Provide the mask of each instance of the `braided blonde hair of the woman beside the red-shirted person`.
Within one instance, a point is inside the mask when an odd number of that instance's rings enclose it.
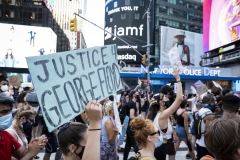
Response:
[[[24,134],[23,128],[21,127],[20,119],[23,116],[25,116],[26,118],[29,118],[32,115],[37,115],[37,112],[29,105],[23,106],[22,108],[20,108],[18,110],[18,112],[15,116],[16,124],[14,126],[14,129],[16,130],[16,132],[20,138],[22,137],[22,135],[24,135],[26,137],[26,135]],[[24,147],[27,147],[26,142],[22,138],[21,138],[21,140],[23,141]]]

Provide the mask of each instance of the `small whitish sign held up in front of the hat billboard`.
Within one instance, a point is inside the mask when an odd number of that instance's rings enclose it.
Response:
[[[180,73],[183,71],[182,62],[178,53],[177,47],[172,47],[171,50],[168,52],[168,57],[170,60],[170,63],[173,68],[178,68],[180,70]]]

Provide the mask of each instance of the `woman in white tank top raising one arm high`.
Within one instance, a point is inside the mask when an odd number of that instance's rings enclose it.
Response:
[[[177,97],[173,104],[167,108],[166,102],[168,101],[166,95],[160,93],[154,96],[154,101],[150,104],[150,109],[148,113],[148,119],[151,119],[154,125],[158,128],[161,135],[163,136],[163,144],[160,147],[155,149],[154,155],[157,160],[165,160],[167,152],[169,155],[175,155],[174,145],[169,144],[171,150],[167,150],[168,144],[167,140],[172,138],[173,128],[170,121],[171,115],[178,109],[178,106],[181,104],[182,97],[182,83],[179,77],[179,70],[173,69],[173,76],[176,79],[177,85]]]

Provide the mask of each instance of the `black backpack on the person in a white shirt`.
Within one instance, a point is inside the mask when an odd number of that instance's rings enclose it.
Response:
[[[200,139],[202,137],[202,132],[201,132],[201,126],[202,126],[202,121],[203,119],[210,115],[213,114],[211,110],[206,109],[206,108],[202,108],[204,109],[204,113],[202,113],[201,115],[199,114],[199,111],[194,112],[193,113],[193,131],[195,132],[195,137],[197,139]]]

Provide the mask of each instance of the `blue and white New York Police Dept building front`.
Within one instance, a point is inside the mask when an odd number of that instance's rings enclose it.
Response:
[[[144,68],[138,70],[139,72],[135,70],[135,73],[125,72],[126,70],[121,72],[121,77],[131,89],[134,89],[137,85],[138,78],[140,80],[147,79],[147,71]],[[180,77],[183,90],[187,90],[188,93],[191,93],[191,86],[194,86],[198,80],[206,84],[208,89],[214,88],[212,81],[215,81],[222,88],[227,87],[240,93],[240,77],[234,76],[230,68],[184,67]],[[154,71],[150,72],[150,83],[155,93],[160,92],[163,85],[169,83],[174,85],[175,79],[172,75],[172,68],[159,65],[159,68],[155,68]]]

